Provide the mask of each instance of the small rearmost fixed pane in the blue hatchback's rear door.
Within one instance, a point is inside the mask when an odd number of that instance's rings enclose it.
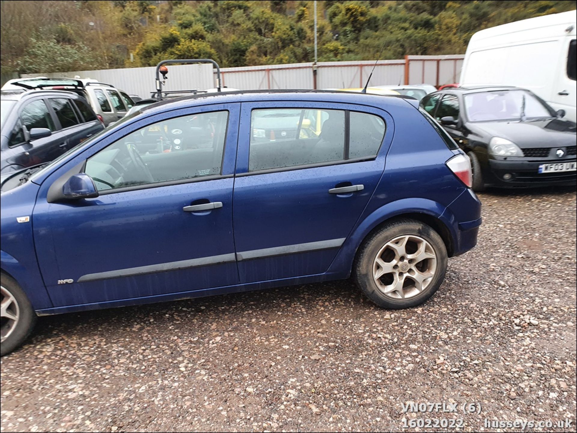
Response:
[[[350,112],[349,158],[377,156],[385,135],[385,122],[374,114]]]

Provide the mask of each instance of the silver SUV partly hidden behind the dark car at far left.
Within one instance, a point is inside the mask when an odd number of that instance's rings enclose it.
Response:
[[[67,90],[84,96],[90,103],[96,116],[108,126],[112,122],[124,117],[126,112],[132,108],[134,101],[126,92],[115,88],[111,84],[104,84],[90,78],[81,80],[76,78],[22,78],[20,80],[10,80],[2,90],[32,90],[32,89],[52,89]]]

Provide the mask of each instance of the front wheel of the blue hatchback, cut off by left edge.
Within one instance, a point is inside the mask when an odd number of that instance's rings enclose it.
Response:
[[[36,323],[36,313],[14,278],[0,274],[0,283],[2,292],[0,356],[4,356],[28,338]]]

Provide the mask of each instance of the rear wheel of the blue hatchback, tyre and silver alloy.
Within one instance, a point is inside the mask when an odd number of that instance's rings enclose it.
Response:
[[[378,306],[410,308],[437,291],[445,278],[447,261],[445,243],[432,227],[417,220],[396,220],[364,240],[353,277]]]

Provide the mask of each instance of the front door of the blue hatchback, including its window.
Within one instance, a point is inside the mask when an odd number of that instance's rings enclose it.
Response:
[[[238,283],[232,206],[238,116],[239,104],[221,104],[142,119],[43,182],[35,242],[55,306]],[[198,133],[199,126],[210,133]],[[78,163],[99,197],[53,202],[48,191],[61,189],[61,176]]]

